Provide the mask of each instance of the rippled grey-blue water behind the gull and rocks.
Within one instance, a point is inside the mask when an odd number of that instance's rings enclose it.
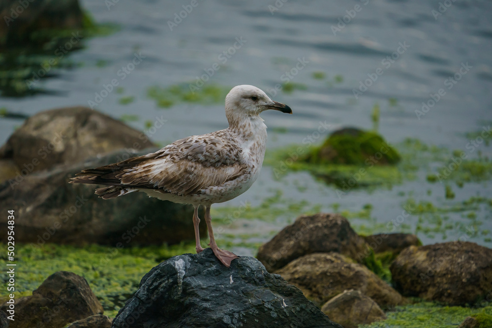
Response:
[[[109,8],[107,2],[85,0],[81,4],[96,22],[116,23],[120,31],[82,41],[84,49],[70,55],[80,67],[57,69],[54,77],[39,82],[43,89],[56,93],[3,97],[0,107],[32,115],[57,107],[88,106],[103,85],[117,79],[123,94],[113,90],[96,109],[116,118],[138,115],[139,119],[129,124],[142,130],[147,120],[166,119],[152,135],[154,141],[165,144],[227,126],[223,104],[179,104],[161,109],[146,96],[151,86],[194,82],[208,70],[213,75],[209,73],[212,76],[206,84],[252,84],[293,108],[293,116],[264,113],[270,131],[267,151],[302,143],[320,122],[330,126],[318,141],[342,126],[371,128],[370,113],[376,102],[381,108],[379,132],[393,143],[413,137],[427,144],[466,150],[464,134],[481,130],[483,121],[492,121],[490,1],[449,1],[449,7],[441,7],[440,13],[437,0],[199,0],[172,30],[168,22],[173,22],[175,13],[179,15],[190,1],[119,1]],[[339,24],[343,20],[347,23]],[[119,70],[136,54],[140,54],[141,63],[122,79]],[[324,72],[326,77],[314,79],[314,72]],[[372,80],[368,80],[370,77]],[[286,80],[306,89],[290,94],[273,91]],[[361,83],[370,86],[359,89]],[[364,92],[356,99],[354,89]],[[439,89],[440,99],[431,106]],[[121,105],[122,96],[134,96],[135,100]],[[397,105],[391,106],[389,99],[396,99]],[[419,119],[416,111],[422,110],[422,102],[430,109]],[[0,142],[20,124],[19,119],[1,119]],[[283,128],[286,133],[275,132]],[[485,146],[480,150],[486,155],[491,153]],[[306,190],[296,188],[299,183]],[[409,193],[418,200],[446,203],[443,186],[428,184],[425,177],[393,190],[351,191],[338,199],[333,187],[306,173],[275,181],[271,168],[265,167],[250,191],[224,205],[237,206],[241,201],[258,204],[272,194],[271,188],[282,189],[285,199],[321,204],[323,210],[333,210],[331,204],[335,202],[340,208],[354,211],[370,203],[373,216],[383,223],[401,214],[401,204]],[[431,196],[426,193],[428,189],[433,190]],[[399,191],[404,196],[398,196]],[[490,195],[491,187],[487,182],[470,183],[455,192],[454,202],[460,202],[471,195]],[[478,213],[484,221],[481,229],[491,229],[490,209]],[[268,225],[260,239],[268,240],[268,234],[291,220],[286,217],[274,226]],[[411,220],[416,217],[407,221]],[[457,215],[452,221],[466,219]],[[232,228],[233,232],[248,229],[239,224]],[[447,240],[461,236],[462,231],[451,231]],[[419,237],[425,243],[442,240],[442,236],[421,233]],[[467,240],[490,246],[486,238],[478,234]]]

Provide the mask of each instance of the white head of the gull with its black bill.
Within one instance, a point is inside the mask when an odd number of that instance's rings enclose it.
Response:
[[[234,87],[225,97],[225,113],[229,122],[233,118],[258,116],[267,109],[292,114],[289,106],[273,101],[265,92],[253,86]]]

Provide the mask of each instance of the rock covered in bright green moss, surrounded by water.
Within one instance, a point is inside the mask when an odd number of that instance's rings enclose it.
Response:
[[[332,133],[305,160],[311,164],[394,165],[400,159],[379,134],[348,127]]]

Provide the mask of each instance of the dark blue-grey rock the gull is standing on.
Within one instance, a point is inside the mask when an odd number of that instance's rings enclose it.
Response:
[[[210,248],[172,257],[147,273],[113,328],[337,327],[301,291],[255,258],[224,267]]]

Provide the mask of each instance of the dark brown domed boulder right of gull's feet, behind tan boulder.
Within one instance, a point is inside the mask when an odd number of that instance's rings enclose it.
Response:
[[[362,260],[369,254],[362,237],[339,214],[303,215],[258,250],[257,258],[273,272],[311,253],[337,252]]]

